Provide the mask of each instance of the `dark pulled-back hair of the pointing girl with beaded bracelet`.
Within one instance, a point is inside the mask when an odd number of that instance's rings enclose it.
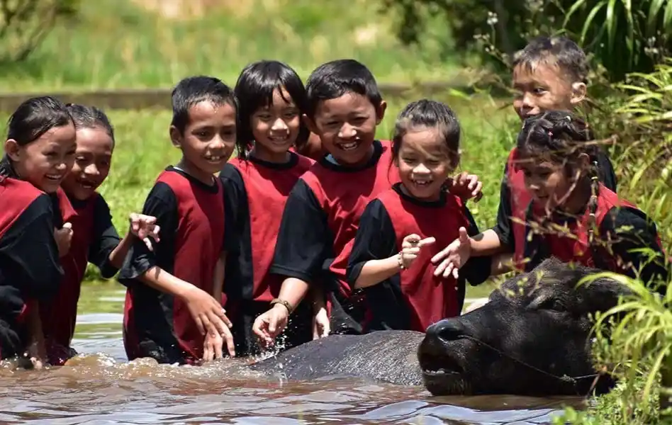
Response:
[[[392,136],[392,156],[396,158],[404,135],[414,128],[437,128],[451,159],[451,166],[459,162],[460,125],[457,116],[445,103],[421,99],[408,103],[399,113]]]

